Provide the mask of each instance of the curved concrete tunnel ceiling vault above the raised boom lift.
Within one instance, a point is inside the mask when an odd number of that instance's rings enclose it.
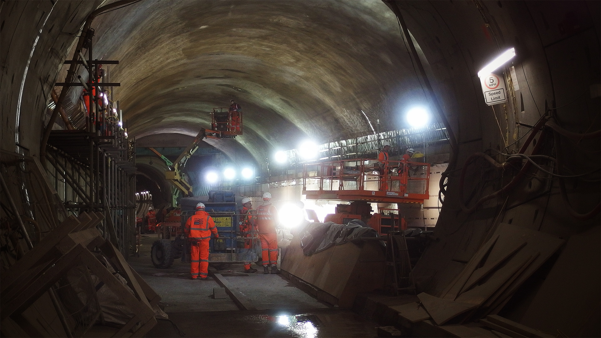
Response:
[[[423,103],[394,13],[373,1],[142,1],[99,16],[130,135],[195,136],[213,107],[243,108],[239,142],[256,161],[319,142],[403,127]],[[231,142],[209,141],[230,157]],[[245,153],[242,151],[242,153]]]

